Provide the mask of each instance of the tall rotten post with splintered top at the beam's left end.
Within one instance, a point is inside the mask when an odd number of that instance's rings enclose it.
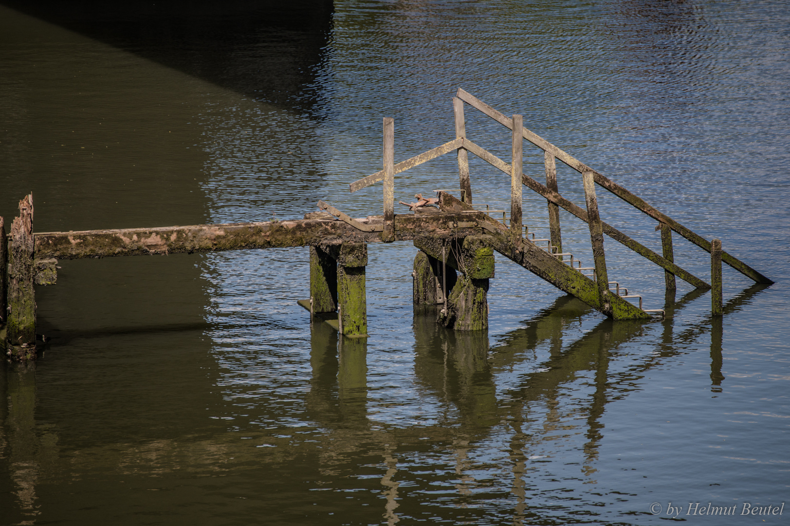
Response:
[[[33,291],[33,195],[19,202],[11,224],[7,339],[15,360],[36,359],[36,297]]]

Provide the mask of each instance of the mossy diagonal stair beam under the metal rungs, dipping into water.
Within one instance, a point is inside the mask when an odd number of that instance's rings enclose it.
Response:
[[[446,192],[441,192],[440,195],[439,206],[442,207],[442,210],[471,210],[470,206]],[[487,233],[492,239],[491,248],[518,263],[532,274],[543,278],[565,293],[573,294],[590,307],[615,320],[649,318],[647,312],[631,305],[629,301],[615,294],[609,294],[608,303],[602,305],[596,282],[581,272],[574,271],[565,263],[561,263],[529,240],[521,239],[517,243],[513,243],[510,239],[510,230],[502,223],[488,216],[484,216],[483,220],[493,227],[487,229]]]

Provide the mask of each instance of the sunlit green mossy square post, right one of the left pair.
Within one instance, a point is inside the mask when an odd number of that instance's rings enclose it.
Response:
[[[337,326],[346,336],[367,337],[366,243],[344,243],[337,257]]]

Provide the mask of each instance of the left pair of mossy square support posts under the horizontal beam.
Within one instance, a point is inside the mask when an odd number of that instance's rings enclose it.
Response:
[[[310,299],[299,305],[310,314],[337,310],[337,320],[326,320],[328,324],[350,338],[367,337],[365,267],[365,243],[311,246]]]

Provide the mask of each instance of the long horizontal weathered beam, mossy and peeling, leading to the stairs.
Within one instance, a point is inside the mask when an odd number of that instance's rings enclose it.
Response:
[[[480,227],[465,227],[477,214],[396,214],[396,240],[416,234],[453,237],[457,232],[480,234]],[[359,220],[366,221],[366,220]],[[382,224],[370,218],[369,224]],[[36,233],[36,258],[80,259],[122,255],[213,252],[247,248],[305,247],[323,242],[381,242],[380,232],[362,232],[343,221],[297,219],[230,223],[225,225],[167,226],[152,229],[86,230]]]

